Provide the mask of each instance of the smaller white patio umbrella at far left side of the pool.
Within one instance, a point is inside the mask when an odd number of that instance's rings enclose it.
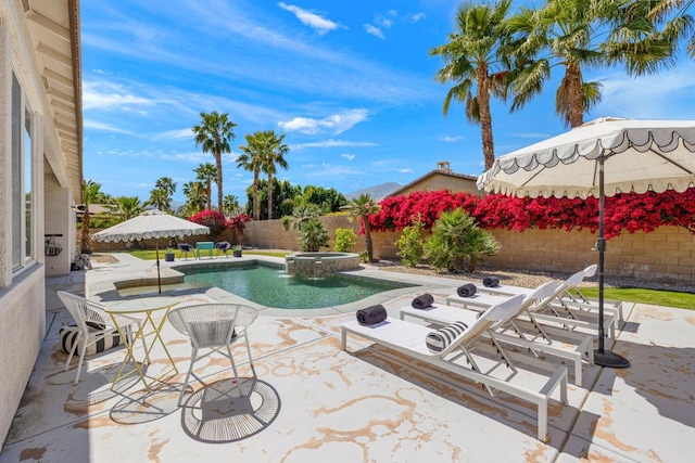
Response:
[[[160,243],[161,237],[184,237],[194,234],[207,234],[210,229],[205,226],[179,219],[161,210],[146,210],[138,217],[117,223],[91,235],[96,241],[116,242],[157,239],[156,248],[156,281],[162,293],[162,279],[160,276]]]

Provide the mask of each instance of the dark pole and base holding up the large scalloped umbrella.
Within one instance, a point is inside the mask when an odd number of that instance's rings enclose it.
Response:
[[[606,252],[606,239],[604,233],[604,159],[598,158],[598,349],[594,350],[594,363],[599,366],[614,369],[626,369],[630,366],[630,361],[624,357],[605,350],[605,329],[604,329],[604,253]]]

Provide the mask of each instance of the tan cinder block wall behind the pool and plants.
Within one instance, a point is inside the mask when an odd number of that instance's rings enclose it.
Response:
[[[359,233],[359,223],[350,222],[345,216],[321,217],[331,237],[329,249],[333,248],[336,229],[352,228]],[[564,230],[492,230],[502,249],[496,256],[485,259],[485,263],[518,270],[549,270],[573,272],[578,268],[598,261],[598,254],[592,250],[596,234],[586,230],[566,232]],[[374,255],[382,259],[396,259],[400,233],[372,233]],[[285,230],[280,220],[261,220],[247,223],[241,240],[225,231],[222,240],[265,249],[300,250],[300,234]],[[207,241],[206,236],[189,236],[187,243]],[[146,241],[146,246],[154,247],[154,241]],[[165,240],[160,240],[160,248],[166,248]],[[123,250],[124,243],[94,243],[94,252]],[[365,237],[357,234],[357,245],[353,252],[365,250]],[[623,233],[608,240],[606,250],[606,272],[614,276],[636,278],[645,281],[675,280],[692,283],[695,291],[695,235],[681,227],[660,227],[652,233]]]

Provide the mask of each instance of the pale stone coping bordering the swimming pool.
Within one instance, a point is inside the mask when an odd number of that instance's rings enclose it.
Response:
[[[162,282],[166,284],[181,283],[184,273],[177,270],[180,267],[217,267],[219,265],[255,265],[258,261],[270,263],[273,266],[283,266],[285,259],[273,256],[263,255],[247,255],[241,258],[228,258],[220,259],[194,259],[194,260],[178,260],[175,262],[161,262],[160,271]],[[200,288],[185,288],[187,294],[198,293],[204,294],[211,299],[218,303],[229,304],[244,304],[256,308],[261,314],[267,317],[326,317],[326,316],[339,316],[343,313],[351,313],[361,308],[383,304],[390,299],[399,296],[416,293],[425,293],[428,291],[442,288],[442,287],[455,287],[455,281],[451,279],[417,275],[409,273],[389,272],[381,270],[378,267],[370,265],[362,265],[358,269],[337,272],[341,275],[351,279],[364,279],[364,280],[377,280],[383,282],[399,282],[410,284],[409,287],[400,287],[382,293],[378,293],[368,296],[364,299],[359,299],[354,303],[343,304],[339,306],[321,307],[316,309],[282,309],[276,307],[267,307],[245,299],[233,293],[229,293],[216,286],[204,286]],[[124,298],[137,298],[143,297],[143,294],[134,294],[129,296],[123,296],[119,291],[125,287],[150,287],[156,286],[156,278],[151,274],[143,274],[132,278],[132,273],[127,276],[114,276],[98,283],[90,285],[88,288],[88,296],[100,300],[102,303],[123,300]],[[149,294],[149,293],[148,293]],[[163,290],[162,294],[176,296],[176,290]],[[179,291],[180,294],[180,291]]]

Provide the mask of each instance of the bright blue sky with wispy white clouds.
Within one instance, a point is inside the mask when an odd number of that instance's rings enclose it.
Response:
[[[236,167],[244,134],[286,133],[293,184],[342,193],[408,183],[448,160],[482,172],[480,129],[463,104],[442,103],[446,42],[458,1],[89,0],[81,2],[85,178],[142,201],[160,177],[181,185],[214,163],[190,128],[201,112],[237,124],[223,158],[224,193],[245,203],[250,172]],[[559,70],[559,69],[558,69]],[[599,116],[695,119],[695,64],[681,57],[656,76],[597,69]],[[497,156],[563,132],[554,114],[559,73],[543,94],[509,114],[493,103]],[[216,193],[213,193],[215,195]],[[216,196],[214,196],[216,197]]]

